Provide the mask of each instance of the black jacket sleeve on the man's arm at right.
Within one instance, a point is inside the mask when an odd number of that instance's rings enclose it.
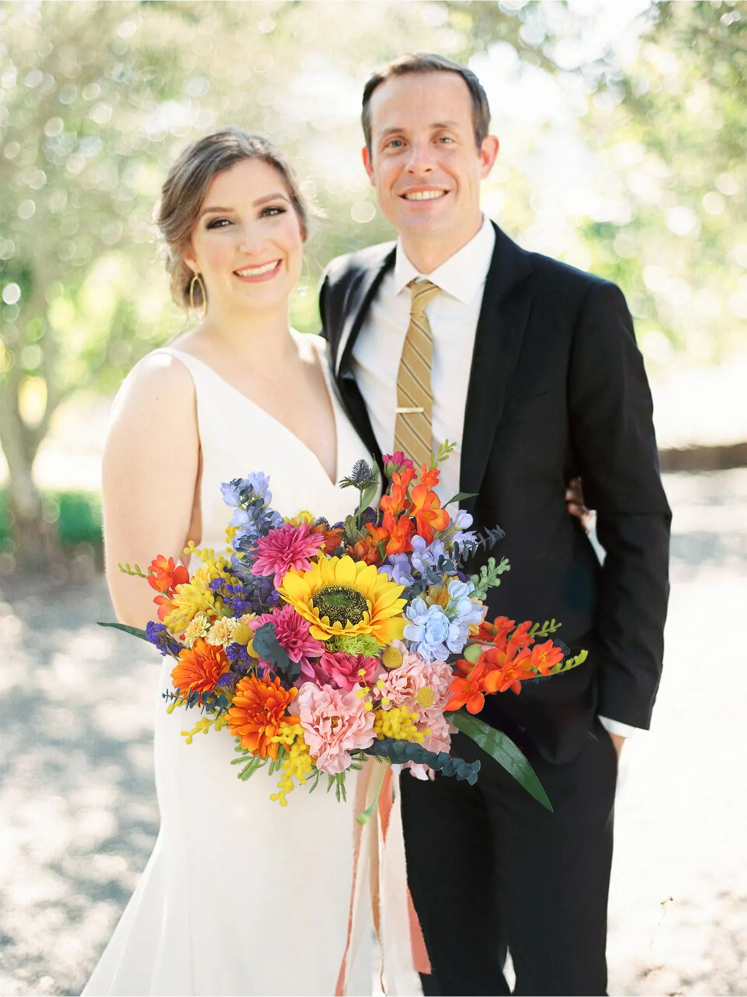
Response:
[[[648,728],[661,674],[671,513],[652,404],[622,292],[596,283],[575,331],[571,435],[606,550],[597,610],[598,712]]]

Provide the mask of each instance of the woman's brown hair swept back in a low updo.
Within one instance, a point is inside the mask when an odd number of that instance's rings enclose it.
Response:
[[[190,304],[189,285],[193,271],[184,262],[192,229],[199,218],[207,188],[215,177],[243,160],[261,160],[273,166],[283,178],[306,241],[309,207],[291,166],[280,150],[261,135],[237,128],[221,129],[198,139],[180,154],[168,171],[155,210],[155,222],[165,242],[166,270],[171,277],[171,294],[176,304]],[[202,285],[195,281],[192,300],[201,307]]]

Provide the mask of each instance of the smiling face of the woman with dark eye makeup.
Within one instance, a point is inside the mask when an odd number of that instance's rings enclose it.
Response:
[[[242,160],[212,181],[184,260],[217,311],[287,303],[301,273],[303,234],[285,180],[263,160]]]

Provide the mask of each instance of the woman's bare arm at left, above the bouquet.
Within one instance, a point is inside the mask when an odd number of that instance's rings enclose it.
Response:
[[[157,554],[182,556],[199,466],[194,386],[178,360],[145,357],[115,400],[104,451],[104,549],[109,590],[121,622],[157,618],[157,594],[118,562],[143,571]]]

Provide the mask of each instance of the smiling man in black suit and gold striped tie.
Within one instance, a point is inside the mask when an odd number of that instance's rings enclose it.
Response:
[[[401,779],[409,885],[432,964],[426,994],[603,994],[622,738],[647,728],[662,656],[670,512],[651,399],[614,284],[521,249],[480,211],[498,140],[478,79],[404,56],[364,91],[364,164],[397,242],[334,260],[321,308],[344,401],[373,453],[458,441],[442,500],[499,523],[511,572],[488,618],[556,617],[584,665],[480,717],[529,758],[541,808],[463,735],[474,787]],[[604,565],[566,483],[583,476]],[[446,495],[448,493],[448,495]]]

